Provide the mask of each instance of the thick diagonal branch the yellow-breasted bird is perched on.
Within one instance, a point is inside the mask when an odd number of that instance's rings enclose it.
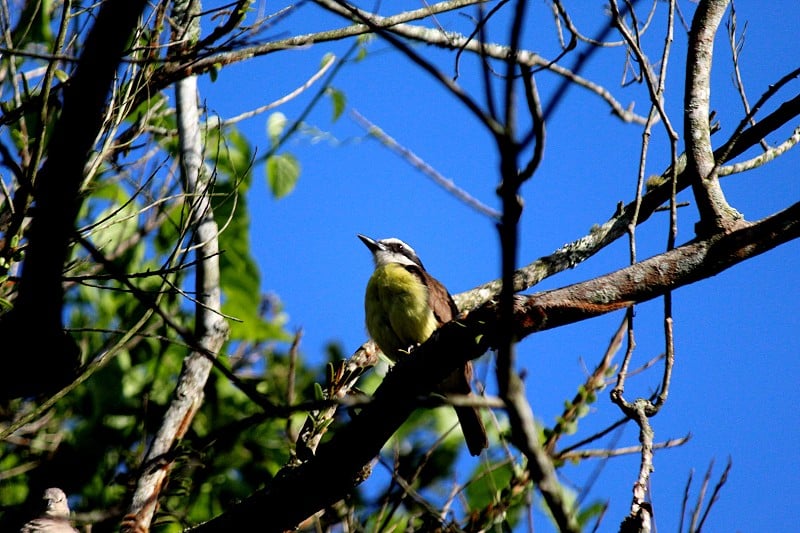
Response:
[[[521,339],[656,298],[798,237],[800,203],[748,227],[686,244],[611,274],[518,297],[516,336]],[[395,365],[373,402],[321,445],[315,457],[297,468],[284,468],[267,488],[195,531],[235,531],[255,523],[262,524],[263,531],[283,531],[345,497],[364,479],[370,461],[414,410],[417,398],[434,390],[465,361],[496,345],[496,326],[495,303],[445,325]]]

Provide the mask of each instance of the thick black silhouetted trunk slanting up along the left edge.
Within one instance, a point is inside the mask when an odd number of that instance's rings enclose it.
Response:
[[[0,328],[3,338],[24,343],[6,347],[9,357],[4,358],[3,375],[7,379],[2,380],[3,395],[52,390],[74,377],[77,348],[62,333],[61,276],[81,206],[84,165],[102,127],[108,93],[144,6],[142,0],[103,4],[75,74],[64,90],[63,111],[34,184],[35,214],[19,295]],[[37,334],[20,336],[20,328],[29,331],[31,324],[37,325]]]

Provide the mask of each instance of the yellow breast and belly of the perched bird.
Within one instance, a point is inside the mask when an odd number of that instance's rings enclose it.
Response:
[[[364,301],[367,330],[387,357],[397,360],[436,330],[428,288],[400,264],[375,269]]]

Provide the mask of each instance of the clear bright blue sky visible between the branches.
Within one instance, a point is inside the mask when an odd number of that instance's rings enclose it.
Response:
[[[696,4],[680,2],[691,17]],[[419,2],[384,2],[383,11],[416,9]],[[741,69],[751,102],[769,83],[797,67],[795,1],[737,4],[739,28],[747,22]],[[277,6],[269,4],[269,9]],[[663,17],[665,5],[659,3]],[[573,8],[577,14],[579,8]],[[595,3],[577,16],[585,33],[594,34],[605,23],[604,7]],[[446,28],[468,31],[463,17],[442,16]],[[299,34],[309,29],[344,25],[313,5],[278,24],[270,37]],[[656,58],[662,45],[659,27],[647,35],[646,52]],[[657,36],[656,36],[657,35]],[[496,26],[490,38],[505,39]],[[682,79],[685,34],[676,29],[670,57],[668,112],[682,129]],[[552,57],[557,53],[552,16],[542,2],[531,2],[526,27],[526,47]],[[301,85],[315,72],[322,57],[341,57],[348,44],[329,43],[309,49],[281,52],[225,68],[215,83],[201,83],[201,97],[212,113],[227,118],[269,103]],[[452,74],[452,54],[417,48]],[[718,146],[738,124],[741,103],[731,81],[731,61],[724,27],[717,40],[713,70],[712,108],[717,110],[721,132]],[[622,89],[623,53],[601,52],[583,75],[611,90],[623,105],[636,102],[646,113],[642,88]],[[563,62],[569,66],[571,60]],[[464,57],[459,82],[479,97],[475,61]],[[537,81],[547,102],[560,79],[540,73]],[[497,160],[491,139],[452,97],[386,43],[374,41],[364,61],[346,66],[334,86],[342,90],[348,107],[355,108],[441,173],[483,202],[497,206]],[[307,105],[318,87],[282,107],[289,119]],[[800,90],[795,81],[775,102]],[[767,112],[774,106],[767,106]],[[763,116],[763,115],[762,115]],[[311,361],[323,357],[326,343],[340,343],[346,353],[366,338],[363,325],[363,290],[372,264],[356,233],[383,238],[400,237],[412,244],[428,270],[453,293],[470,289],[498,276],[498,242],[492,223],[459,203],[364,132],[347,113],[331,123],[331,106],[323,102],[307,120],[329,136],[312,139],[301,135],[286,151],[302,164],[296,190],[282,200],[270,197],[263,168],[257,168],[249,196],[253,251],[261,269],[262,288],[284,302],[290,329],[302,327],[303,353]],[[258,153],[268,149],[266,116],[241,125]],[[795,124],[767,140],[785,140]],[[526,208],[521,223],[520,258],[526,264],[551,253],[564,243],[585,235],[595,223],[606,221],[619,201],[632,199],[642,128],[611,117],[597,96],[570,89],[547,124],[547,148],[539,172],[525,185]],[[316,142],[314,142],[316,140]],[[756,152],[751,151],[749,156]],[[648,174],[660,173],[669,162],[663,129],[655,128]],[[798,149],[763,170],[724,180],[729,201],[747,219],[757,220],[800,199]],[[688,194],[681,200],[692,201]],[[693,206],[680,211],[679,242],[693,237]],[[655,215],[639,231],[639,254],[644,258],[663,251],[667,217]],[[710,461],[716,461],[714,480],[725,461],[733,459],[728,484],[705,531],[790,531],[797,527],[800,502],[800,405],[798,355],[798,252],[792,242],[747,261],[715,278],[678,290],[674,294],[677,362],[669,401],[654,420],[657,440],[693,435],[682,448],[660,451],[655,458],[652,498],[656,524],[661,531],[676,531],[683,488],[695,470],[692,499]],[[534,290],[563,286],[624,267],[627,244],[617,243],[578,268],[546,280]],[[584,367],[600,358],[620,314],[602,317],[525,339],[519,346],[520,366],[527,372],[527,387],[534,412],[552,425],[563,401],[582,383]],[[662,302],[637,308],[637,350],[634,364],[663,351]],[[479,373],[489,373],[485,357]],[[650,394],[660,382],[660,368],[632,378],[628,397]],[[597,413],[581,429],[600,428],[619,417],[607,393],[595,405]],[[583,431],[582,431],[583,433]],[[585,434],[585,433],[584,433]],[[618,445],[637,443],[633,427]],[[601,442],[600,444],[607,444]],[[589,463],[594,466],[595,463]],[[465,471],[473,466],[465,463]],[[589,499],[611,498],[603,531],[613,530],[630,502],[637,458],[606,465]],[[565,469],[580,482],[588,470]],[[537,517],[536,530],[549,524]]]

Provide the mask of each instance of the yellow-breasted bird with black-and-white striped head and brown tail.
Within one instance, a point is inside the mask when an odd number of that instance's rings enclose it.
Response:
[[[375,240],[358,234],[358,238],[375,263],[364,298],[367,331],[384,355],[397,362],[458,316],[458,307],[411,246],[394,237]],[[442,382],[438,392],[472,394],[471,380],[468,361]],[[470,454],[480,455],[489,446],[480,412],[474,406],[454,407]]]

